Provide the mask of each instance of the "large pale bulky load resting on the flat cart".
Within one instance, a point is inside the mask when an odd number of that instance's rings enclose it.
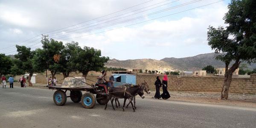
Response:
[[[67,77],[64,79],[61,87],[91,87],[85,84],[84,77]]]

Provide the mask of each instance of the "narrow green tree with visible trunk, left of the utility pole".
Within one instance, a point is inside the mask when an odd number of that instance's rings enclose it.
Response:
[[[15,75],[21,75],[20,73],[23,73],[23,71],[28,73],[29,86],[33,86],[31,83],[31,78],[33,73],[38,71],[34,69],[32,63],[32,58],[34,57],[35,51],[31,51],[31,48],[27,48],[26,46],[16,45],[16,48],[18,53],[15,55],[15,58],[17,58],[17,61],[15,61],[15,66],[12,68],[12,73],[14,74],[14,70],[17,67],[20,70],[17,70]]]

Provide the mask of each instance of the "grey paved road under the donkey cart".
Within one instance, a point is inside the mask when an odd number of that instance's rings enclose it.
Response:
[[[255,128],[256,108],[197,104],[137,98],[132,108],[113,111],[96,104],[85,109],[69,98],[53,103],[54,91],[36,88],[0,88],[0,128]],[[120,100],[121,101],[121,100]],[[122,101],[121,101],[122,102]]]

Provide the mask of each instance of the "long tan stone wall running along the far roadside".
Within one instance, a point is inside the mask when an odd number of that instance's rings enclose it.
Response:
[[[76,76],[76,75],[73,75]],[[79,76],[79,75],[77,75]],[[80,75],[81,76],[81,75]],[[159,75],[163,79],[163,75]],[[88,84],[94,84],[98,76],[87,76]],[[140,74],[136,76],[136,83],[140,84],[144,80],[149,84],[151,90],[155,90],[154,81],[157,75]],[[57,80],[63,79],[63,76],[56,75]],[[106,77],[108,79],[108,76]],[[62,80],[63,81],[63,80]],[[60,82],[62,82],[60,81]],[[217,76],[168,76],[168,89],[174,91],[198,91],[198,92],[214,92],[221,91],[224,77]],[[46,83],[45,75],[38,74],[36,76],[37,83]],[[230,92],[232,93],[256,93],[256,74],[252,74],[250,78],[233,78],[230,85]]]

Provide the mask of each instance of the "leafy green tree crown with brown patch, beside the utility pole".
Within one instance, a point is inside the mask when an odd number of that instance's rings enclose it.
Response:
[[[58,60],[54,60],[55,55],[60,55],[64,49],[64,45],[61,41],[42,40],[43,49],[36,49],[33,58],[33,65],[36,70],[49,70],[52,78],[54,78],[57,71],[61,69],[61,65],[58,64]]]

